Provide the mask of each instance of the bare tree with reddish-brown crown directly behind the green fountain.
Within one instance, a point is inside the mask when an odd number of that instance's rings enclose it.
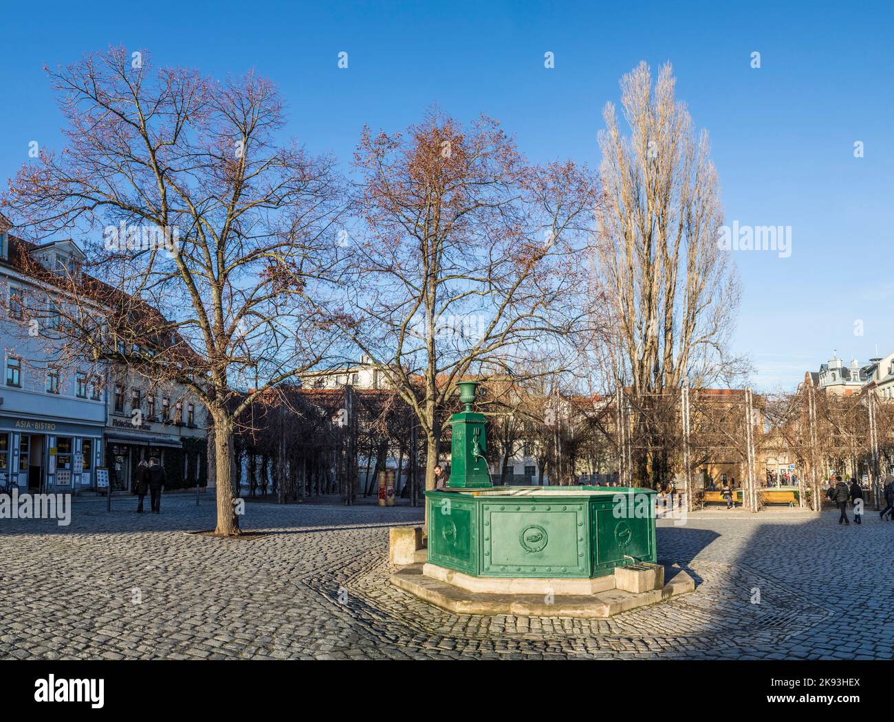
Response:
[[[575,253],[595,180],[570,162],[528,164],[488,118],[437,111],[404,135],[364,130],[355,165],[364,241],[349,288],[363,322],[346,332],[417,416],[433,489],[455,383],[511,371],[581,323]]]

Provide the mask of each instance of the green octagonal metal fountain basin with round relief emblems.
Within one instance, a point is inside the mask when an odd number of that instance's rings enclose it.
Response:
[[[598,486],[426,491],[428,561],[474,576],[611,575],[656,560],[654,496]]]

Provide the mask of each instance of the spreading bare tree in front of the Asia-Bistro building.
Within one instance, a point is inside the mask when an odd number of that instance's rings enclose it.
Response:
[[[48,71],[67,147],[24,166],[2,206],[33,239],[87,242],[83,268],[55,280],[71,357],[181,383],[205,404],[215,533],[230,535],[234,419],[332,343],[339,189],[330,159],[281,142],[269,81],[153,71],[137,55],[112,48]]]

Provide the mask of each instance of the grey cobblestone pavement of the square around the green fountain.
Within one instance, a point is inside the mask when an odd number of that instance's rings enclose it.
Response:
[[[894,523],[714,513],[659,521],[696,592],[608,620],[454,616],[388,583],[387,527],[421,509],[76,500],[72,524],[0,520],[0,658],[890,659]],[[753,603],[758,600],[760,603]]]

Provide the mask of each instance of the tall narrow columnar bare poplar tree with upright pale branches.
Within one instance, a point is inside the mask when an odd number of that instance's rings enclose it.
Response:
[[[614,330],[609,375],[616,388],[628,388],[632,425],[641,439],[653,437],[640,444],[651,448],[660,440],[647,423],[649,399],[684,382],[729,383],[747,369],[730,354],[740,291],[718,244],[723,212],[707,133],[696,135],[675,100],[670,64],[653,87],[640,63],[620,88],[629,136],[611,103],[599,133],[604,203],[594,258],[604,295],[595,308]],[[661,456],[657,449],[641,456],[640,474]]]

